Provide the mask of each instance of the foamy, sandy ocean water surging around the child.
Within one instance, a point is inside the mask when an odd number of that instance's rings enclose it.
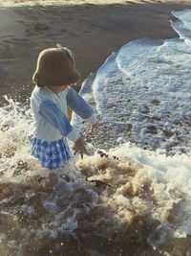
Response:
[[[89,155],[50,172],[30,155],[29,102],[0,108],[0,255],[191,255],[191,11],[180,37],[124,45],[84,81]]]

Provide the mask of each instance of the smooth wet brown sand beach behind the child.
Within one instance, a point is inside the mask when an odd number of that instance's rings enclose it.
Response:
[[[172,11],[190,0],[22,1],[0,4],[0,101],[25,101],[38,53],[56,43],[74,52],[82,81],[112,52],[141,38],[171,38]]]

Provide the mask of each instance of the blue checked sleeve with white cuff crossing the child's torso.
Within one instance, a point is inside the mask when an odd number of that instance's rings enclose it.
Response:
[[[66,115],[51,101],[44,101],[39,106],[39,113],[63,136],[75,142],[80,134],[70,124]]]

